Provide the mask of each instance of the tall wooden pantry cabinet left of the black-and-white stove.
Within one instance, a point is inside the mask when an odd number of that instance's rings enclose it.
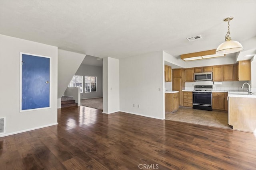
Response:
[[[185,88],[184,69],[183,68],[172,69],[172,90],[179,91],[178,93],[179,106],[183,106],[182,90],[184,88]]]

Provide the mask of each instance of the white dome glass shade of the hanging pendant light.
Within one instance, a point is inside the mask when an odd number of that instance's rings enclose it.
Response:
[[[216,54],[230,54],[241,50],[243,50],[243,46],[238,41],[229,40],[219,45]]]

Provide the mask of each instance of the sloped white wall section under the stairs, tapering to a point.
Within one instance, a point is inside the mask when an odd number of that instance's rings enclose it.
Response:
[[[85,56],[85,54],[58,49],[58,99],[64,94]],[[58,106],[60,106],[59,103]]]

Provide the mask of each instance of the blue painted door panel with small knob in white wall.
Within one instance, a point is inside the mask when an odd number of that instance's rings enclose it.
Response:
[[[50,59],[22,54],[22,110],[49,106]]]

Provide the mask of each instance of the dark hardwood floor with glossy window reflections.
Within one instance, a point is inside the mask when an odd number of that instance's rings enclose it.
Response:
[[[58,125],[0,138],[0,169],[256,167],[252,133],[90,107],[58,109]]]

